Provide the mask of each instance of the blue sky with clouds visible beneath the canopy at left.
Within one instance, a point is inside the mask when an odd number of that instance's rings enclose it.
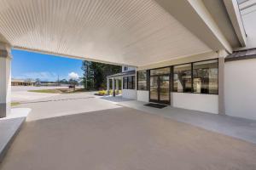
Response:
[[[49,54],[38,54],[22,50],[12,50],[12,77],[39,78],[41,81],[68,79],[73,73],[82,77],[82,60],[69,59]]]

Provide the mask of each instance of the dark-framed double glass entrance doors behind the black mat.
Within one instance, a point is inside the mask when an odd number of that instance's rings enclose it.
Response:
[[[170,77],[150,77],[150,102],[170,105]]]

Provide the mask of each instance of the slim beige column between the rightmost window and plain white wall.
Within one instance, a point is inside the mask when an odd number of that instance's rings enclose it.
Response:
[[[227,56],[225,50],[218,51],[218,114],[225,115],[224,104],[224,62]]]

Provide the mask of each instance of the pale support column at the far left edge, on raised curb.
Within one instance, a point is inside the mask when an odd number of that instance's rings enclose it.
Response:
[[[11,110],[11,54],[10,47],[0,42],[0,118]]]

